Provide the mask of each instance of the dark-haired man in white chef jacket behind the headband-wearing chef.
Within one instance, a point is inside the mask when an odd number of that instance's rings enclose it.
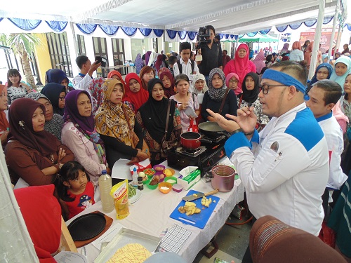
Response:
[[[347,180],[347,175],[340,167],[341,154],[344,149],[343,131],[333,116],[331,109],[343,94],[343,89],[335,81],[325,79],[314,83],[308,95],[306,105],[311,109],[319,126],[321,126],[329,151],[329,178],[323,195],[324,212],[333,199],[333,190],[338,190]],[[330,195],[330,196],[329,196]]]

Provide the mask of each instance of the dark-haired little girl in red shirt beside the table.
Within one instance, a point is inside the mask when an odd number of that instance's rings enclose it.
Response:
[[[71,219],[95,203],[94,186],[77,161],[65,163],[55,180],[65,218]]]

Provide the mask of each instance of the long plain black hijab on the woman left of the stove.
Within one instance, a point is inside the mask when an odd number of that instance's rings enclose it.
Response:
[[[168,99],[164,97],[162,100],[157,101],[152,97],[152,88],[154,88],[156,83],[160,83],[162,88],[164,84],[160,79],[150,79],[147,83],[147,90],[149,91],[149,98],[147,102],[140,107],[139,112],[143,123],[150,133],[152,139],[156,142],[161,143],[162,137],[164,137],[164,130],[166,128],[166,119],[167,119],[167,108],[168,108]],[[171,100],[171,109],[169,112],[169,121],[168,121],[168,134],[173,130],[173,115],[176,110],[176,102]]]

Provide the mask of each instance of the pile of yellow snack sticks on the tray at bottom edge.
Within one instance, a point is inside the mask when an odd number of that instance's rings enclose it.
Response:
[[[141,263],[150,256],[151,253],[143,245],[132,243],[119,248],[107,263]]]

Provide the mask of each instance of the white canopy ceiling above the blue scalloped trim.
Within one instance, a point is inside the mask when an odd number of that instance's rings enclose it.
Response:
[[[244,34],[272,26],[315,19],[321,0],[16,0],[0,7],[0,18],[63,20],[197,31],[213,25],[216,33]],[[337,0],[326,0],[325,15]]]

